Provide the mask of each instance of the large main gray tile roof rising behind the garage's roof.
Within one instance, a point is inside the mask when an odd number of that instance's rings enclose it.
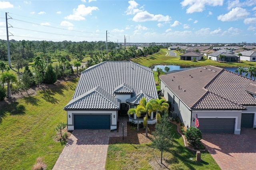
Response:
[[[132,61],[105,61],[89,67],[81,73],[72,101],[84,96],[97,86],[100,86],[113,97],[115,96],[115,90],[118,92],[124,91],[125,93],[133,89],[132,97],[140,91],[144,91],[153,99],[158,98],[154,74],[151,69]],[[95,100],[92,99],[88,102],[88,105],[94,105],[90,103],[94,103]],[[82,107],[78,108],[82,109]],[[106,107],[103,105],[99,108],[104,109]]]

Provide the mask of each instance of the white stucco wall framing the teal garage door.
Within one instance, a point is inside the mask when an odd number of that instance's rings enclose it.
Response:
[[[110,115],[110,130],[117,128],[117,111],[67,111],[68,130],[74,130],[74,115]],[[69,117],[70,115],[70,117]],[[115,115],[115,118],[114,118]]]

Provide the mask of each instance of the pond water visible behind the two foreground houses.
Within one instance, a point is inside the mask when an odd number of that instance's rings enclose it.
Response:
[[[166,66],[170,68],[170,71],[172,71],[172,70],[188,70],[188,69],[198,68],[198,67],[193,67],[193,66],[181,66],[181,65],[155,65],[151,69],[152,69],[152,71],[156,71],[156,68],[159,67],[164,71],[164,67],[166,67]],[[232,71],[234,73],[238,69],[238,67],[221,67],[221,68]],[[244,67],[244,68],[247,69],[247,67]],[[242,73],[242,75],[244,76],[245,73]],[[249,78],[250,74],[248,74],[247,77]],[[252,79],[254,79],[253,76],[252,76]]]

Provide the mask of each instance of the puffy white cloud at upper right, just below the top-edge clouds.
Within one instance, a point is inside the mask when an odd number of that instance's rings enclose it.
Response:
[[[250,13],[246,11],[246,9],[240,8],[240,7],[236,7],[236,8],[232,8],[232,10],[230,12],[228,12],[227,14],[222,14],[220,16],[218,16],[218,20],[221,21],[236,21],[239,19],[243,19],[246,18]]]

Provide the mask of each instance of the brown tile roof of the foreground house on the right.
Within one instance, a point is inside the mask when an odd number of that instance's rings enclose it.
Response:
[[[190,109],[245,109],[242,105],[256,105],[256,99],[246,91],[256,82],[219,67],[199,67],[160,79]]]

